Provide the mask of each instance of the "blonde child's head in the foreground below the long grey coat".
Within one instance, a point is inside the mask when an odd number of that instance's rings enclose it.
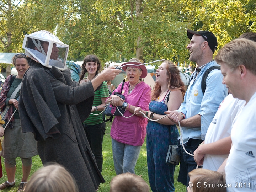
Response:
[[[59,164],[37,170],[28,181],[24,192],[78,192],[74,178]]]

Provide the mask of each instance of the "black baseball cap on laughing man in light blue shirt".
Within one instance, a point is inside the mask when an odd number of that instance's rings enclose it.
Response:
[[[188,38],[191,40],[193,35],[201,35],[204,40],[206,40],[208,42],[208,45],[210,47],[210,49],[212,49],[212,52],[214,53],[215,50],[217,49],[218,43],[217,43],[217,38],[215,37],[215,35],[212,32],[209,31],[193,31],[190,29],[187,29],[187,36]]]

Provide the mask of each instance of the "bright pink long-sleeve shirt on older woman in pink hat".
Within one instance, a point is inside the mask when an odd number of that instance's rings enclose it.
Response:
[[[145,82],[137,84],[132,93],[127,96],[129,91],[129,82],[125,82],[123,86],[123,95],[126,97],[126,102],[130,105],[142,108],[149,111],[148,105],[151,101],[151,89]],[[122,83],[119,84],[114,92],[121,92]],[[126,110],[124,116],[129,117],[133,113]],[[132,116],[124,118],[123,116],[115,116],[112,123],[110,136],[120,142],[133,146],[142,146],[146,136],[147,119],[142,116]]]

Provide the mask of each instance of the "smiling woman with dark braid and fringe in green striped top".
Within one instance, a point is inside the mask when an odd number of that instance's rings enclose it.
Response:
[[[82,73],[79,82],[92,80],[101,71],[100,60],[95,55],[87,55],[82,64]],[[87,77],[85,77],[87,73]],[[95,91],[94,102],[91,113],[99,114],[105,108],[105,101],[108,97],[107,83],[103,82],[102,87]],[[102,157],[102,142],[105,134],[106,123],[103,122],[102,115],[92,115],[83,123],[86,137],[89,141],[92,153],[95,156],[98,169],[102,171],[103,157]]]

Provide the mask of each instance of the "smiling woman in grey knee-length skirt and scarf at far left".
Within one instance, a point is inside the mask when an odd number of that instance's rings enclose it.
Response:
[[[10,188],[15,185],[16,158],[22,161],[22,179],[17,192],[22,192],[30,174],[32,156],[37,155],[36,140],[32,132],[22,133],[20,116],[18,110],[18,98],[23,75],[29,68],[26,55],[18,53],[12,58],[12,63],[17,69],[18,75],[7,76],[0,94],[0,108],[4,111],[10,107],[4,118],[6,124],[10,120],[4,131],[4,142],[1,155],[4,157],[5,170],[8,181],[0,185],[0,190]],[[17,110],[16,110],[17,109]],[[16,110],[16,111],[15,111]],[[14,113],[15,111],[15,113]],[[12,114],[14,113],[14,116]]]

